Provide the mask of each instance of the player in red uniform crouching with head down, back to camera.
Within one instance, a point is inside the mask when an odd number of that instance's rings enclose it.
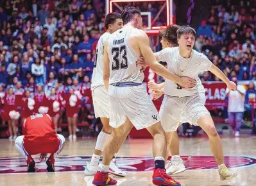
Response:
[[[56,134],[55,124],[48,114],[33,114],[24,120],[22,134],[15,140],[15,148],[26,158],[28,173],[35,173],[35,161],[31,155],[40,154],[46,161],[47,171],[55,171],[55,157],[65,142],[63,135]]]

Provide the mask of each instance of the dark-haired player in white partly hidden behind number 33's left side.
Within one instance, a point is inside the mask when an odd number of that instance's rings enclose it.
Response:
[[[105,32],[99,38],[97,49],[96,49],[96,59],[94,63],[94,71],[92,73],[92,99],[94,103],[95,117],[100,117],[103,128],[98,135],[94,153],[90,164],[85,167],[84,173],[87,175],[95,175],[99,171],[99,158],[104,149],[105,142],[107,141],[112,127],[109,125],[109,101],[108,92],[104,87],[103,82],[103,50],[104,44],[108,37],[115,31],[123,28],[123,21],[121,14],[119,13],[108,13],[105,19],[105,27],[107,32]],[[125,140],[125,139],[124,139]],[[126,176],[126,173],[119,169],[116,164],[115,158],[110,162],[110,173],[117,176]]]

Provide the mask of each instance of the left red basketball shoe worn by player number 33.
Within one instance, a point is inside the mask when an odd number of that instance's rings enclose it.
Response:
[[[108,173],[103,173],[102,171],[98,171],[92,181],[94,185],[115,185],[116,183],[117,181],[108,176]]]

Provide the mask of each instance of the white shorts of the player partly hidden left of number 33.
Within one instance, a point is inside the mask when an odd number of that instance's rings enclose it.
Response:
[[[109,97],[104,85],[92,89],[95,117],[109,117]]]

